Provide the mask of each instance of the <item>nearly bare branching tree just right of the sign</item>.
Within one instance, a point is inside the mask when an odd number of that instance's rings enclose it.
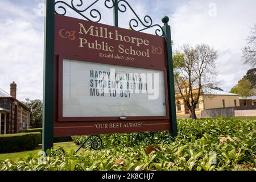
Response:
[[[217,52],[205,44],[195,47],[185,44],[174,55],[176,90],[191,111],[193,119],[196,119],[195,109],[203,88],[216,84],[216,59]]]

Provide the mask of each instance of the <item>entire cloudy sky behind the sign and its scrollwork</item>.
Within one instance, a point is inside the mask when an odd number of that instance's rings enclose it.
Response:
[[[242,64],[241,49],[246,46],[250,27],[256,23],[255,0],[127,1],[140,17],[150,15],[154,23],[162,25],[162,17],[170,16],[175,48],[187,43],[204,43],[215,48],[218,79],[222,81],[219,86],[225,91],[250,69]],[[93,1],[85,2],[86,6]],[[112,24],[112,10],[106,9],[104,2],[100,0],[92,8],[101,11],[100,23]],[[43,3],[43,0],[0,0],[0,88],[10,92],[10,82],[15,81],[19,100],[43,98]],[[69,12],[69,16],[79,17]],[[129,27],[129,19],[134,18],[130,10],[119,16],[123,28]]]

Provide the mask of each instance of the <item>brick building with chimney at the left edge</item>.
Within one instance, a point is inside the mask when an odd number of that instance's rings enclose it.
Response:
[[[22,133],[30,126],[30,109],[16,99],[15,82],[10,94],[0,88],[0,134]]]

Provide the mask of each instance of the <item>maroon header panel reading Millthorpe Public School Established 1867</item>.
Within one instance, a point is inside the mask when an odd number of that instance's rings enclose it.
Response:
[[[164,38],[55,15],[55,54],[115,65],[165,68]]]

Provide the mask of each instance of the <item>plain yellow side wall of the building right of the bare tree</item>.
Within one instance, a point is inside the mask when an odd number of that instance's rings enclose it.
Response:
[[[204,96],[204,109],[221,108],[222,100],[225,100],[225,107],[234,107],[234,100],[237,101],[237,106],[240,106],[239,96]]]

